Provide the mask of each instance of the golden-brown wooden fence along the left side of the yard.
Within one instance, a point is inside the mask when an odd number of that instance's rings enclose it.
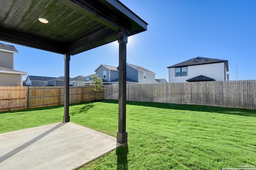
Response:
[[[102,100],[104,91],[92,91],[93,86],[70,87],[70,103]],[[0,87],[0,111],[64,104],[64,87]]]

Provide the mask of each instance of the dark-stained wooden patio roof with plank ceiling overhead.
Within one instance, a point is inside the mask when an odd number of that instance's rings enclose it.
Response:
[[[61,54],[87,51],[147,25],[118,0],[0,1],[0,40]]]

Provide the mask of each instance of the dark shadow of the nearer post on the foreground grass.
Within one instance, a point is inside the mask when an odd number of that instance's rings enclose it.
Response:
[[[123,146],[116,148],[116,155],[117,155],[117,170],[128,170],[128,143]]]

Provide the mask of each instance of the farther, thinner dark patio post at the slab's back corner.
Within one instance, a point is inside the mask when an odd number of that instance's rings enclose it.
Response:
[[[65,78],[64,78],[64,116],[63,122],[70,121],[69,115],[69,61],[70,61],[70,54],[64,54],[64,61],[65,61]]]

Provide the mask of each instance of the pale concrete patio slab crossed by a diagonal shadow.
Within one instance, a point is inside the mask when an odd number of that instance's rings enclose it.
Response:
[[[0,169],[72,170],[116,147],[115,137],[72,122],[0,133]]]

